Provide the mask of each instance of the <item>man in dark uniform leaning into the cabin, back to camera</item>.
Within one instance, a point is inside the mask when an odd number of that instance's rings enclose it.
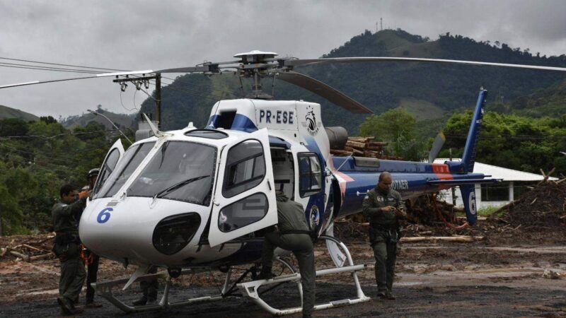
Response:
[[[267,232],[263,242],[262,271],[260,278],[273,277],[271,272],[273,252],[276,247],[287,249],[299,261],[301,284],[303,285],[303,317],[311,317],[315,302],[315,278],[313,241],[306,224],[305,211],[301,204],[289,200],[277,191],[278,232]]]

